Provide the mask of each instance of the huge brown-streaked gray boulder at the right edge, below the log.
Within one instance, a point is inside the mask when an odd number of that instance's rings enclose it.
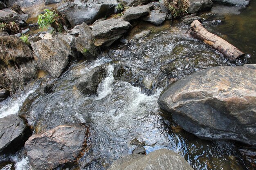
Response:
[[[202,139],[256,145],[256,64],[198,71],[166,88],[159,105]]]

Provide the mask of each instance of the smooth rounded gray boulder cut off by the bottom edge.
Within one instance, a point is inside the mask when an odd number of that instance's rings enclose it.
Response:
[[[160,149],[148,155],[127,155],[112,163],[108,170],[193,170],[193,168],[179,154]]]

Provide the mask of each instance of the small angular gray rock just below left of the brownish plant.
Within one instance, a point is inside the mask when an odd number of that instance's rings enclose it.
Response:
[[[150,15],[143,17],[142,20],[150,22],[151,24],[160,25],[164,22],[166,13],[160,13],[157,10],[150,12]]]

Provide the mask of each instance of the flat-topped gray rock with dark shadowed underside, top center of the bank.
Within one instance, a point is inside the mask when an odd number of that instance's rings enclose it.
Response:
[[[123,19],[130,21],[130,20],[140,18],[141,16],[148,15],[152,7],[153,5],[151,4],[143,5],[139,7],[130,7],[125,11],[123,15]]]

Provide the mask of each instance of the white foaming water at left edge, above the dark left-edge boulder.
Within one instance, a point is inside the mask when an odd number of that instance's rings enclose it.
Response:
[[[20,97],[16,99],[10,99],[7,104],[0,108],[0,118],[16,114],[20,110],[20,106],[22,106],[25,99],[33,92],[34,90],[31,90],[26,94],[20,95]]]

